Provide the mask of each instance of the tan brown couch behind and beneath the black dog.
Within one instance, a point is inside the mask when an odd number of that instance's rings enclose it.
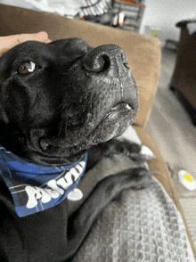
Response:
[[[45,30],[52,40],[66,37],[83,37],[92,46],[116,44],[125,50],[129,66],[135,76],[140,98],[140,109],[133,127],[135,127],[142,143],[148,146],[156,156],[155,159],[149,162],[151,171],[159,179],[159,182],[163,184],[167,193],[175,202],[177,209],[181,212],[182,217],[184,217],[167,164],[155,143],[153,143],[151,136],[145,130],[159,80],[159,41],[152,37],[144,37],[135,33],[130,34],[126,31],[111,29],[86,21],[69,20],[57,15],[0,4],[1,35],[35,33],[42,30]],[[187,233],[196,258],[196,252],[188,229]]]

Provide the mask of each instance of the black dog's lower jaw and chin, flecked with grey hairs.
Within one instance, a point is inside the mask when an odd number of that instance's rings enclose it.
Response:
[[[118,102],[83,137],[76,137],[75,141],[71,142],[62,138],[59,141],[43,138],[39,141],[40,148],[48,155],[63,155],[66,151],[69,151],[69,155],[78,156],[80,151],[87,150],[94,144],[103,143],[121,135],[128,125],[134,121],[136,111],[134,106],[131,106],[129,103]]]

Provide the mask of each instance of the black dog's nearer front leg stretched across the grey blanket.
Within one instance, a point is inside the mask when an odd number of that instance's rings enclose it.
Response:
[[[100,181],[83,205],[69,217],[67,261],[78,250],[94,221],[106,205],[127,188],[140,189],[151,183],[151,171],[132,168]]]

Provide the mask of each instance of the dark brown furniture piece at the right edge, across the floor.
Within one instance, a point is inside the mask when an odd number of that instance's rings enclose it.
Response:
[[[181,30],[181,36],[170,89],[175,92],[190,115],[192,124],[196,126],[196,32],[189,34],[189,22],[184,20],[176,24]]]

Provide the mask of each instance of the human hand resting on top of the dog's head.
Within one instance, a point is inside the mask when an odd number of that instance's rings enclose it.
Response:
[[[21,34],[8,37],[0,37],[0,57],[15,45],[19,45],[26,41],[38,41],[50,43],[46,32],[39,32],[37,34]]]

